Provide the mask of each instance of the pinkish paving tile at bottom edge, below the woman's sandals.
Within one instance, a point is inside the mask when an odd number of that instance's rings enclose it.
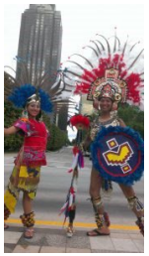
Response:
[[[38,253],[39,246],[34,245],[17,245],[13,253]]]

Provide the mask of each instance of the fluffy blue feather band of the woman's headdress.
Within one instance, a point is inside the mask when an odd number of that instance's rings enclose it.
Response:
[[[12,94],[8,97],[10,101],[18,108],[25,107],[29,97],[37,94],[40,101],[40,109],[46,113],[52,112],[52,103],[49,95],[40,88],[36,88],[32,84],[24,84],[20,87],[15,87]]]

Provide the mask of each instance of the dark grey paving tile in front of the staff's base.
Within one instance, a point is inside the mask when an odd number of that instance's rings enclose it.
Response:
[[[90,240],[88,236],[73,236],[71,238],[67,238],[67,248],[87,248],[90,249]]]

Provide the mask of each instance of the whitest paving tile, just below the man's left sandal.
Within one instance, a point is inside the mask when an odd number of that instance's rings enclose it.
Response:
[[[114,250],[110,236],[90,237],[90,243],[92,249]]]

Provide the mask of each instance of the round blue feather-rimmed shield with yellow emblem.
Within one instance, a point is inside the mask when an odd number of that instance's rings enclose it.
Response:
[[[102,127],[91,145],[93,166],[106,180],[127,186],[141,179],[144,142],[129,127]]]

